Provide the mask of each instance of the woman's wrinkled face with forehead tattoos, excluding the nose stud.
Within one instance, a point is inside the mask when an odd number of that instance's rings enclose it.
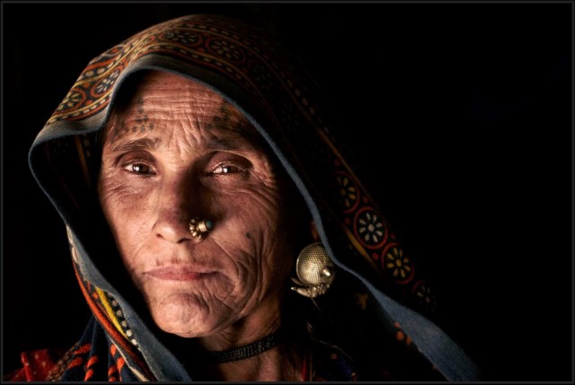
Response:
[[[285,184],[217,93],[153,72],[111,119],[99,195],[124,265],[156,324],[181,337],[242,319],[279,322],[293,251]],[[203,240],[192,216],[209,219]],[[300,225],[302,223],[299,223]]]

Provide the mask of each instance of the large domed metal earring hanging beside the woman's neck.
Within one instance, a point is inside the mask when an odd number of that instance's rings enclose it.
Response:
[[[330,288],[335,271],[335,265],[323,248],[323,243],[312,243],[297,257],[297,278],[291,278],[297,286],[292,286],[291,290],[308,298],[322,295]]]

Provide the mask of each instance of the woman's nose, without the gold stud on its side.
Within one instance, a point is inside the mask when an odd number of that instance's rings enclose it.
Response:
[[[194,186],[190,178],[164,181],[156,197],[153,232],[158,238],[172,243],[198,242],[204,237],[194,237],[190,232],[192,217],[205,218],[205,193]]]

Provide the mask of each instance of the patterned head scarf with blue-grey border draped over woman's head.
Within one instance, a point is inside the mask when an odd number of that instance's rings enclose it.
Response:
[[[392,372],[392,379],[394,370],[412,373],[411,380],[478,378],[474,363],[434,322],[429,285],[361,183],[304,67],[251,26],[198,14],[159,23],[95,57],[32,145],[31,171],[66,223],[75,272],[93,312],[84,336],[49,371],[49,380],[193,380],[122,284],[128,276],[109,249],[107,224],[94,204],[98,131],[122,83],[140,70],[208,85],[270,145],[341,271],[321,303],[338,328],[349,328],[349,341],[361,341],[350,348],[359,367],[363,362],[382,377]],[[341,379],[318,371],[315,379]]]

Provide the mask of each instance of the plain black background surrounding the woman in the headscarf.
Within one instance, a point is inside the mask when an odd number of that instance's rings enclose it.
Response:
[[[88,310],[27,152],[88,61],[186,13],[299,55],[486,381],[572,381],[571,2],[3,3],[3,372]]]

